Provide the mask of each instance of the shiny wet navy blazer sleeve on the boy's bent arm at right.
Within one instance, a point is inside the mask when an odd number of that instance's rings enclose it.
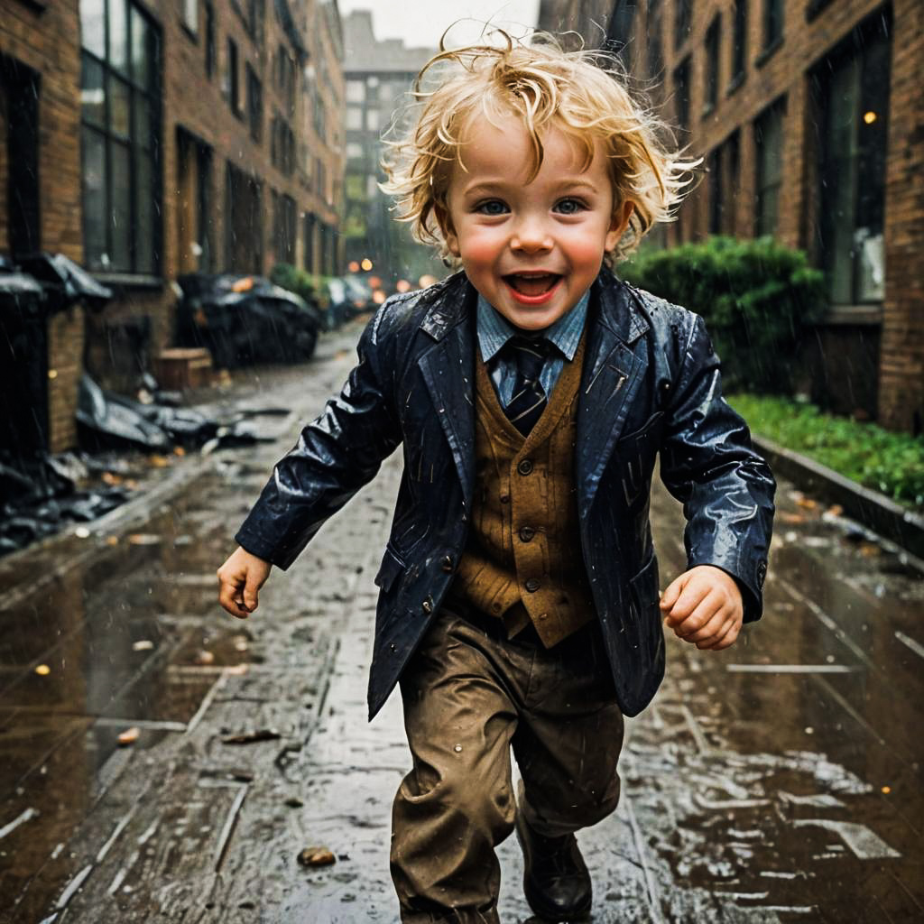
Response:
[[[684,505],[687,567],[716,565],[735,577],[751,622],[763,607],[776,482],[723,398],[719,358],[702,318],[692,317],[668,396],[661,477]]]

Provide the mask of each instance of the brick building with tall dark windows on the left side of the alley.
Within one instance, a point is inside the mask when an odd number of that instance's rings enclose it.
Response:
[[[128,389],[170,344],[177,275],[338,268],[342,55],[335,0],[0,0],[0,252],[116,291],[49,322],[53,451],[84,365]]]

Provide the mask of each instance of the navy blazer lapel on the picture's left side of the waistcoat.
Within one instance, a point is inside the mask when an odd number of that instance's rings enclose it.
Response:
[[[469,507],[475,480],[475,322],[471,303],[472,298],[465,298],[461,317],[438,310],[428,315],[422,326],[436,343],[418,359]]]

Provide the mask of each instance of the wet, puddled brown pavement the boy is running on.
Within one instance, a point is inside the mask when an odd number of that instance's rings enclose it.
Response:
[[[355,338],[211,395],[290,408],[276,444],[180,460],[148,509],[0,561],[0,920],[397,919],[409,756],[398,699],[369,724],[365,691],[399,458],[254,617],[214,602],[231,535]],[[779,500],[764,619],[722,653],[669,639],[627,724],[620,807],[579,835],[598,924],[924,920],[920,574],[792,485]],[[652,509],[666,586],[680,513],[663,492]],[[334,863],[300,865],[306,847]],[[516,840],[499,853],[502,919],[532,920]]]

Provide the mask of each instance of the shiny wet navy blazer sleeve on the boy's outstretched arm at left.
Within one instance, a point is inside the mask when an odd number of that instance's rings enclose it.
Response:
[[[391,395],[394,363],[383,346],[387,304],[359,339],[359,362],[339,395],[279,462],[235,540],[286,569],[322,524],[379,470],[401,443]]]

